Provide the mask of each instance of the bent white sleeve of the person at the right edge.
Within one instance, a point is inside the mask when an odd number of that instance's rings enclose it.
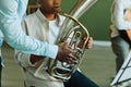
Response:
[[[124,10],[127,8],[131,9],[131,4],[127,2],[127,5],[124,4],[124,0],[116,0],[115,5],[115,23],[118,29],[128,29],[131,28],[131,22],[124,21]],[[130,4],[130,5],[129,5]],[[129,5],[129,7],[128,7]]]

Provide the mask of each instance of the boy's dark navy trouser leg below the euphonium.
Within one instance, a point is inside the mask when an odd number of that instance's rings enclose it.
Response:
[[[76,71],[68,82],[64,82],[64,87],[98,87],[93,80],[87,78],[81,72]]]

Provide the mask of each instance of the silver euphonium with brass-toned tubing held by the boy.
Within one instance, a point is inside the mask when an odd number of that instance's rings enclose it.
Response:
[[[61,32],[57,38],[56,44],[59,44],[61,40],[68,41],[69,46],[75,50],[76,61],[73,64],[68,64],[56,59],[50,63],[48,69],[48,72],[51,76],[62,80],[68,80],[79,67],[81,61],[83,60],[82,57],[85,51],[85,46],[87,44],[90,34],[88,30],[82,25],[82,23],[78,21],[78,18],[83,13],[85,13],[96,1],[97,0],[78,0],[69,14],[62,12],[61,9],[58,9],[58,12],[66,16],[66,20],[61,26]],[[79,42],[81,41],[83,34],[86,36],[86,39],[84,40],[83,47],[79,47]]]

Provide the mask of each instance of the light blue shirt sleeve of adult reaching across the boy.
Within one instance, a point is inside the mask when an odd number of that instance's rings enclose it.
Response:
[[[19,1],[0,0],[0,30],[5,41],[20,51],[55,59],[58,53],[58,46],[36,40],[22,30],[22,17],[17,12],[20,9]]]

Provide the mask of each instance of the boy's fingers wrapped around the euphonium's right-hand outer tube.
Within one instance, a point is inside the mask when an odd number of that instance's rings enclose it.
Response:
[[[85,40],[86,40],[86,36],[83,36],[83,37],[81,38],[80,44],[79,44],[79,47],[80,47],[80,48],[83,47]],[[87,40],[87,42],[86,42],[85,48],[86,48],[86,49],[91,49],[92,47],[93,47],[93,38],[90,37],[88,40]]]

